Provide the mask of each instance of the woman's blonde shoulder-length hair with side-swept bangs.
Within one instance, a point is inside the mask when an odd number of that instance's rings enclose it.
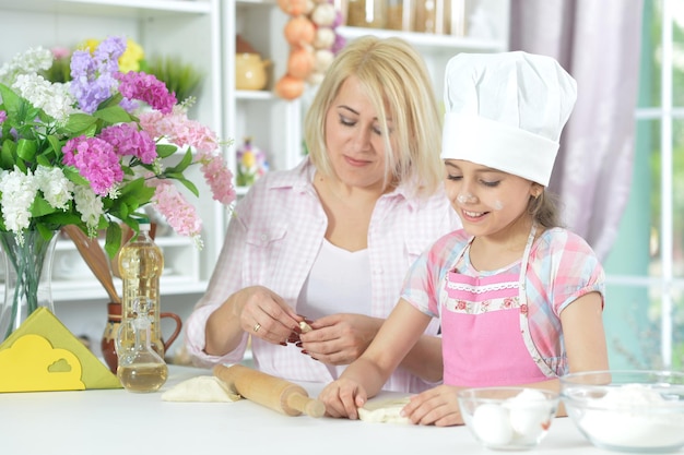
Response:
[[[357,38],[328,69],[304,120],[304,139],[318,171],[332,173],[326,117],[340,87],[352,75],[378,112],[382,131],[388,131],[387,119],[393,120],[392,141],[385,134],[386,185],[411,182],[417,194],[432,194],[445,177],[439,159],[441,116],[425,62],[411,45],[396,37]]]

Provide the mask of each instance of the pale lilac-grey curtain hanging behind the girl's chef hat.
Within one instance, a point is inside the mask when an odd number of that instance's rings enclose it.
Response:
[[[601,259],[629,196],[641,10],[641,0],[510,0],[510,50],[554,57],[577,81],[550,190]]]

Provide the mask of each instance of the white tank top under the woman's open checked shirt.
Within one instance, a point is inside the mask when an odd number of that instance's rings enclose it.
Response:
[[[311,321],[335,313],[370,314],[368,250],[351,252],[323,239],[299,294],[297,313]]]

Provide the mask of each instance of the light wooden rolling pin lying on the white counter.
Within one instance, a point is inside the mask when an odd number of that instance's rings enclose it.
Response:
[[[240,396],[262,406],[285,414],[321,417],[326,405],[309,398],[304,387],[241,364],[214,367],[214,375]]]

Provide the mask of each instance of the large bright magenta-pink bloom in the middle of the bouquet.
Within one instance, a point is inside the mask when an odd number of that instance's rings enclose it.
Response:
[[[91,182],[95,194],[105,196],[123,179],[123,170],[114,147],[98,137],[78,136],[62,147],[62,161],[75,167]]]

